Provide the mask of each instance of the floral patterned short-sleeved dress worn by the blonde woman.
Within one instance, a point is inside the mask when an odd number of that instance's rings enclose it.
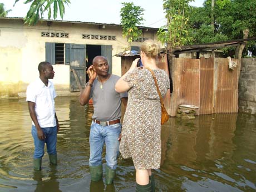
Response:
[[[170,87],[164,70],[152,70],[162,96]],[[154,79],[147,69],[135,68],[124,81],[131,87],[122,125],[120,152],[132,157],[137,169],[159,169],[161,161],[161,104]]]

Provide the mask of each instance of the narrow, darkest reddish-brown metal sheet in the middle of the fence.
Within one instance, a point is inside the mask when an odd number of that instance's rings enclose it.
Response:
[[[214,113],[214,58],[200,58],[200,115]]]

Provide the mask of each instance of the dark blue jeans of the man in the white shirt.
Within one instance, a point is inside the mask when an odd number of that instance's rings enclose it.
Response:
[[[36,126],[32,125],[32,136],[34,138],[35,152],[34,159],[40,159],[45,154],[45,143],[49,155],[56,155],[56,142],[57,142],[57,126],[41,128],[45,134],[45,140],[40,140],[37,137]]]

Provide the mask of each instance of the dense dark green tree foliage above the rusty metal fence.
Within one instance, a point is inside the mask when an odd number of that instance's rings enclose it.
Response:
[[[211,0],[205,0],[203,7],[194,7],[190,14],[188,24],[194,44],[256,36],[256,0],[215,0],[214,9],[211,10],[211,7]],[[214,26],[211,25],[212,11]],[[214,27],[214,31],[210,32],[212,27]],[[252,50],[254,45],[255,41],[250,41],[247,44],[247,49]],[[244,47],[245,44],[242,44],[236,48],[236,58],[242,57]],[[225,50],[227,55],[234,55],[232,53],[234,48]]]

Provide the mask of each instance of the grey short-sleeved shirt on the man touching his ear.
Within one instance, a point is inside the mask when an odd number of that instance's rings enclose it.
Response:
[[[92,119],[99,121],[111,121],[121,117],[121,98],[127,97],[127,92],[115,91],[116,81],[119,76],[111,75],[101,87],[101,82],[96,80],[92,84],[90,98],[93,100]]]

